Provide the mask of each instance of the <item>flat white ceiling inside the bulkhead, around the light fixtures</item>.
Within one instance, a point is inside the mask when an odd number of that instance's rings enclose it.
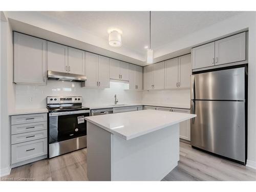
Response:
[[[193,33],[221,20],[237,15],[237,11],[153,11],[152,48]],[[140,54],[149,44],[149,12],[146,11],[47,11],[41,14],[66,22],[108,41],[108,31],[122,31],[122,46]]]

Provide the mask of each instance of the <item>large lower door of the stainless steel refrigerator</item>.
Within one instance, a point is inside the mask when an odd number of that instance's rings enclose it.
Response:
[[[245,102],[192,100],[191,145],[245,162]]]

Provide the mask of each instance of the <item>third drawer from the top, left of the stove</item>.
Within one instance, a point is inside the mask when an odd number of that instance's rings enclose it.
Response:
[[[43,139],[43,138],[47,138],[47,130],[16,134],[16,135],[12,135],[11,138],[12,138],[11,139],[12,144],[22,143],[26,141],[33,141],[36,139]]]

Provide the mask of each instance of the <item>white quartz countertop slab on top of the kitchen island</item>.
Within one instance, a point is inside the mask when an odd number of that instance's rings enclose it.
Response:
[[[86,120],[123,139],[133,139],[196,117],[194,114],[141,110],[86,117]]]

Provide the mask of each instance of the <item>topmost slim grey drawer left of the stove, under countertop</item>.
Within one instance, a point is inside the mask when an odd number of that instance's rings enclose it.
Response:
[[[11,123],[23,124],[23,123],[33,123],[47,121],[47,113],[29,114],[29,115],[13,115],[11,117]]]

